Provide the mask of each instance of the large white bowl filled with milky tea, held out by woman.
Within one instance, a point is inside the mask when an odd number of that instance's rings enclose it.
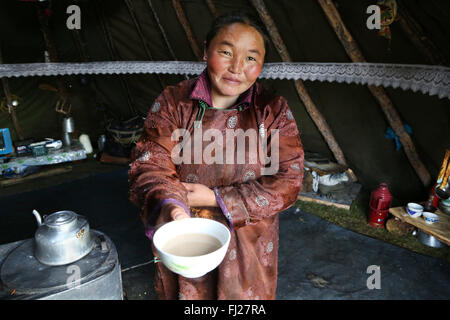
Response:
[[[230,238],[230,231],[220,222],[187,218],[156,230],[153,245],[169,270],[186,278],[198,278],[222,262]]]

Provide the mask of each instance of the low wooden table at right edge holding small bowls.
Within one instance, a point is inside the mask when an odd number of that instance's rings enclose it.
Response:
[[[389,213],[450,246],[450,215],[443,213],[439,209],[433,212],[439,216],[439,221],[433,224],[426,223],[422,216],[412,218],[405,207],[390,208]]]

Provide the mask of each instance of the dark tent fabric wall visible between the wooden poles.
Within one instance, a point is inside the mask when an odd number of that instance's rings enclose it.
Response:
[[[137,19],[149,45],[153,60],[173,60],[159,32],[147,0],[133,0]],[[244,0],[213,1],[219,13],[245,10],[256,14]],[[177,60],[196,60],[170,0],[152,0],[165,28]],[[204,0],[182,0],[197,43],[202,47],[213,17]],[[319,4],[314,0],[265,0],[294,61],[350,62]],[[408,39],[397,22],[391,26],[389,43],[366,27],[366,8],[375,1],[335,1],[343,20],[369,62],[430,64]],[[448,26],[450,3],[445,0],[403,2],[408,12],[424,28],[442,54],[450,61]],[[79,62],[81,56],[72,31],[66,28],[66,8],[81,8],[80,34],[90,61],[149,60],[142,41],[123,0],[52,1],[50,27],[59,60]],[[108,48],[102,27],[104,16],[113,38],[115,51]],[[34,4],[17,0],[0,2],[0,41],[5,63],[44,61],[45,43]],[[266,62],[280,61],[272,46]],[[161,79],[161,81],[158,79]],[[88,133],[92,141],[104,131],[105,119],[145,116],[163,87],[184,79],[182,76],[128,75],[63,77],[71,92],[75,126]],[[56,85],[54,77],[9,79],[11,91],[21,98],[17,117],[26,137],[59,138],[62,116],[54,111],[58,95],[43,91],[39,84]],[[83,82],[88,80],[90,84]],[[161,83],[162,82],[162,83]],[[274,92],[285,96],[294,112],[305,149],[332,158],[326,143],[299,99],[292,81],[261,80]],[[380,182],[389,183],[400,199],[424,197],[420,180],[405,153],[395,150],[393,140],[384,137],[389,126],[369,90],[360,85],[312,82],[305,85],[340,144],[348,163],[363,185],[369,189]],[[128,90],[126,90],[128,88]],[[412,91],[387,88],[402,119],[412,129],[417,151],[436,178],[445,148],[449,146],[449,104],[445,99]],[[3,90],[0,93],[3,97]],[[12,128],[10,118],[0,113],[0,127]],[[13,132],[15,137],[15,133]]]

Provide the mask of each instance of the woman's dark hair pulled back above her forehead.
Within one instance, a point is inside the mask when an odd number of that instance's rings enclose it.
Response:
[[[263,37],[264,48],[266,49],[267,53],[270,41],[264,27],[254,15],[242,11],[232,11],[220,15],[216,19],[214,19],[213,24],[209,29],[208,34],[206,35],[206,49],[209,48],[209,44],[211,43],[212,39],[214,39],[214,37],[219,33],[219,31],[222,28],[229,26],[233,23],[243,23],[255,28],[259,32],[259,34]]]

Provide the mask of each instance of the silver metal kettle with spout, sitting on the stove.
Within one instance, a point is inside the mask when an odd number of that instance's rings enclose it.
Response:
[[[73,211],[58,211],[43,220],[33,210],[39,225],[34,235],[34,255],[39,262],[60,266],[86,256],[94,247],[89,223]]]

